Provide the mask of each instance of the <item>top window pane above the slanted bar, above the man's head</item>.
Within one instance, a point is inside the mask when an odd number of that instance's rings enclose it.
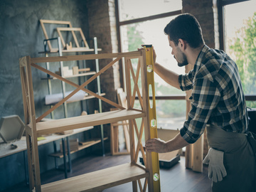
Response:
[[[181,0],[119,0],[119,21],[182,9]]]

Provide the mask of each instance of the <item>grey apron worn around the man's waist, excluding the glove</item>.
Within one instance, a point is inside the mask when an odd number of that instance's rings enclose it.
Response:
[[[256,161],[246,134],[225,132],[213,124],[207,125],[208,144],[223,151],[227,176],[212,183],[213,192],[256,192]]]

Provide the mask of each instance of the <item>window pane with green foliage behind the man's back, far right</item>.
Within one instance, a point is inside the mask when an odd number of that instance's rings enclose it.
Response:
[[[256,94],[256,1],[225,6],[225,50],[235,60],[245,95]],[[256,107],[255,102],[247,102]]]

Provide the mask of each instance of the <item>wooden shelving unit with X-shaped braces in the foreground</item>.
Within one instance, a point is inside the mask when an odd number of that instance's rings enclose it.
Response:
[[[49,57],[49,58],[30,58],[29,56],[20,58],[21,69],[21,85],[23,93],[23,108],[25,114],[26,124],[26,142],[28,147],[28,171],[29,182],[31,191],[102,191],[105,188],[117,186],[122,183],[132,182],[133,191],[154,191],[153,182],[154,176],[152,171],[152,161],[150,159],[151,153],[145,152],[142,146],[142,136],[144,139],[150,139],[150,117],[149,117],[149,90],[147,86],[146,78],[146,51],[134,51],[129,53],[105,53],[94,55],[70,55],[65,57]],[[33,82],[31,68],[42,70],[36,63],[50,63],[60,62],[65,60],[92,60],[92,59],[107,59],[112,58],[112,62],[108,63],[98,73],[93,75],[82,85],[74,85],[69,80],[60,77],[59,75],[51,74],[55,78],[70,83],[75,87],[75,90],[67,97],[63,98],[60,102],[54,105],[50,110],[41,114],[36,119],[36,109],[33,98]],[[124,67],[126,73],[127,83],[127,108],[118,105],[115,102],[107,100],[100,95],[94,96],[100,100],[119,108],[116,111],[102,112],[99,114],[89,114],[87,116],[69,117],[64,119],[53,119],[49,122],[41,122],[41,119],[46,117],[50,112],[63,104],[70,97],[75,95],[75,92],[79,90],[87,91],[84,87],[92,82],[98,75],[102,74],[108,68],[111,68],[114,63],[119,62],[124,58]],[[137,65],[135,67],[136,73],[134,73],[134,67],[132,66],[132,60],[135,60]],[[43,70],[46,73],[50,73],[48,70]],[[140,76],[140,78],[139,78]],[[131,83],[131,78],[134,84]],[[141,80],[142,90],[139,90],[138,81]],[[135,97],[139,97],[140,107],[134,108]],[[142,100],[143,97],[143,100]],[[135,119],[142,118],[139,125]],[[51,134],[55,132],[62,132],[70,129],[77,129],[80,127],[95,126],[99,124],[109,124],[112,122],[129,121],[129,138],[130,138],[130,155],[131,163],[123,164],[120,166],[110,167],[100,171],[95,171],[89,174],[83,174],[72,178],[66,178],[61,181],[55,181],[53,183],[47,183],[41,186],[40,178],[40,166],[38,158],[38,143],[37,137],[41,134]],[[140,127],[140,128],[139,128]],[[144,134],[143,134],[144,132]],[[137,138],[136,138],[137,135]],[[135,141],[137,139],[137,142]],[[139,151],[142,152],[145,166],[142,166],[137,162]],[[159,162],[157,162],[158,164]],[[141,181],[141,178],[142,181]],[[142,183],[144,182],[144,183]]]

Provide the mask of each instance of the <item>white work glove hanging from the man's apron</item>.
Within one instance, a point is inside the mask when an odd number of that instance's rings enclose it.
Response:
[[[223,155],[223,151],[210,148],[206,158],[203,159],[203,164],[209,164],[208,178],[211,178],[214,182],[222,181],[223,177],[227,176],[227,172],[225,171],[223,164]]]

